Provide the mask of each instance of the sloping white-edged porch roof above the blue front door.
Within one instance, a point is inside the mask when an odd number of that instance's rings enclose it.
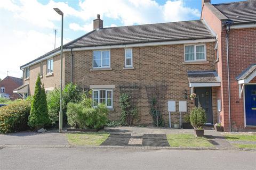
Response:
[[[256,64],[252,64],[247,67],[238,77],[236,80],[238,84],[249,83],[254,77],[256,77]]]

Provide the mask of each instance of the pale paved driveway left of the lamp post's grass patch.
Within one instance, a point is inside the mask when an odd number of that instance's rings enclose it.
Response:
[[[57,130],[46,133],[18,132],[0,134],[0,145],[68,145],[65,134]]]

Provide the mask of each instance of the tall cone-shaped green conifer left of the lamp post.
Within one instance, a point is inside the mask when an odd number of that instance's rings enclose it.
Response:
[[[30,115],[28,117],[28,125],[35,129],[39,129],[50,124],[46,94],[44,86],[41,87],[41,84],[41,79],[38,75],[36,80],[35,94],[31,102]]]

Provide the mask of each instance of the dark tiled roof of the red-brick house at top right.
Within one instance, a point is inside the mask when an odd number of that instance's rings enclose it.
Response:
[[[256,1],[231,2],[213,4],[222,14],[227,16],[227,22],[233,24],[256,23]]]

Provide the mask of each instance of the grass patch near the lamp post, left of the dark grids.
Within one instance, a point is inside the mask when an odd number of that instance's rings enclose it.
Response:
[[[85,132],[85,133],[67,133],[70,145],[91,145],[99,146],[105,141],[109,133],[105,132]]]

